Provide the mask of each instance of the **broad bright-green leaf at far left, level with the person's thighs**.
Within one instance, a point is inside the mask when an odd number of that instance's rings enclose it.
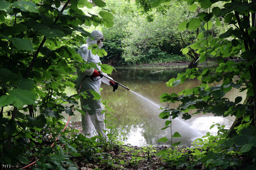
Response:
[[[32,91],[12,89],[10,90],[10,95],[13,95],[17,99],[19,99],[23,105],[35,104],[36,94],[33,93]]]

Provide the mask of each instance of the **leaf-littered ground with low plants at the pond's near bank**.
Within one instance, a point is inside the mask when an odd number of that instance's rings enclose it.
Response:
[[[107,153],[111,155],[108,161],[73,161],[76,163],[79,170],[183,170],[183,168],[170,168],[160,156],[156,155],[163,149],[170,148],[167,145],[154,146],[150,149],[146,147],[121,145],[107,150]],[[189,151],[186,148],[175,148],[175,150],[177,149],[183,152]],[[201,165],[199,165],[199,167],[200,166]]]

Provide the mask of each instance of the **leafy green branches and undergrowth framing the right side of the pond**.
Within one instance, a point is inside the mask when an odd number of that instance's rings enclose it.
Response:
[[[256,167],[256,25],[255,12],[256,2],[252,1],[225,1],[223,6],[215,6],[219,1],[185,0],[190,9],[206,9],[195,15],[191,19],[182,21],[178,25],[180,31],[196,30],[202,25],[209,30],[207,34],[198,34],[197,42],[182,49],[183,53],[188,53],[193,49],[200,54],[198,61],[207,62],[208,55],[217,55],[222,57],[239,56],[241,62],[227,61],[224,62],[219,57],[218,66],[207,67],[202,72],[197,68],[187,69],[185,73],[177,75],[176,79],[170,79],[167,82],[168,87],[177,86],[183,83],[185,79],[198,79],[201,81],[200,86],[192,89],[185,89],[179,94],[162,94],[161,102],[167,102],[167,107],[163,108],[163,112],[159,115],[166,121],[166,127],[171,127],[171,120],[177,116],[182,116],[185,120],[191,118],[188,114],[189,110],[193,114],[212,113],[214,116],[236,116],[241,118],[241,122],[231,131],[227,131],[224,127],[219,127],[218,136],[214,137],[207,134],[208,140],[204,142],[198,139],[203,150],[194,150],[192,154],[176,154],[173,149],[162,151],[162,158],[167,159],[170,164],[189,169],[196,168],[196,165],[203,164],[206,169],[233,169],[243,166],[245,169],[253,169]],[[165,0],[150,0],[151,7],[161,6],[166,3]],[[219,21],[224,20],[229,24],[229,29],[225,33],[214,37],[210,33],[210,29],[215,25],[220,25]],[[220,85],[215,85],[220,83]],[[235,101],[225,98],[225,94],[232,88],[247,91],[247,97],[244,104],[241,103],[242,97],[237,95]],[[176,109],[169,108],[168,103],[181,102]],[[213,125],[214,126],[214,125]],[[165,129],[164,128],[164,129]],[[175,132],[171,133],[171,138],[179,137]],[[166,142],[167,137],[161,138],[159,141]],[[176,146],[178,143],[171,143]],[[161,155],[161,154],[160,154]],[[186,158],[191,158],[195,162],[187,162]],[[247,163],[241,163],[239,156],[245,157]]]

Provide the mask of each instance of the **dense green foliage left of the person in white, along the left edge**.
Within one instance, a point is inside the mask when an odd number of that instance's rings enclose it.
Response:
[[[83,0],[0,1],[1,167],[29,163],[27,156],[36,144],[51,141],[49,135],[55,137],[61,132],[55,128],[56,123],[62,124],[62,113],[71,116],[73,109],[83,113],[76,101],[79,96],[67,96],[65,88],[74,88],[75,65],[82,70],[95,65],[81,65],[83,59],[73,47],[79,47],[90,36],[81,25],[113,26],[110,10],[102,9],[94,15],[85,14],[79,8],[93,5],[104,7],[106,3],[101,0],[93,0],[93,3]],[[92,48],[93,53],[106,55],[98,46]],[[107,65],[102,65],[102,69],[107,73],[112,71]],[[45,156],[51,148],[41,150],[39,154],[44,155],[40,162],[46,167],[43,164],[49,159]],[[61,150],[55,153],[63,155]],[[62,158],[56,159],[62,161]]]

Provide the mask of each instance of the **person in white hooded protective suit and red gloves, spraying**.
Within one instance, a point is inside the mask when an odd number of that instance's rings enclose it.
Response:
[[[89,37],[86,40],[86,44],[82,45],[77,52],[77,54],[80,54],[85,61],[95,63],[98,69],[98,70],[93,68],[86,69],[85,72],[81,72],[79,68],[76,69],[76,73],[77,73],[76,87],[80,87],[81,85],[80,91],[81,92],[86,91],[87,95],[89,96],[87,98],[80,97],[81,106],[85,106],[88,104],[88,107],[91,109],[91,110],[85,110],[82,107],[82,110],[85,112],[85,116],[82,115],[82,130],[83,130],[82,133],[88,138],[95,136],[97,133],[99,136],[102,135],[103,138],[106,138],[106,141],[108,142],[108,138],[106,137],[106,134],[103,131],[105,130],[105,123],[104,123],[105,114],[101,113],[101,111],[103,110],[103,104],[99,100],[93,100],[94,96],[92,95],[92,93],[90,93],[89,89],[94,90],[100,94],[101,82],[104,82],[108,85],[111,84],[111,86],[113,87],[114,86],[117,87],[117,84],[114,84],[113,81],[110,81],[106,77],[102,77],[101,79],[99,79],[100,74],[98,71],[100,71],[101,69],[97,63],[99,62],[101,63],[100,57],[98,55],[92,54],[92,51],[88,50],[88,46],[97,44],[99,48],[101,48],[103,46],[104,36],[99,30],[93,30],[90,35],[93,37],[93,39]],[[107,76],[107,74],[105,73],[102,73],[102,74]],[[83,78],[86,76],[89,76],[89,77],[83,80]]]

